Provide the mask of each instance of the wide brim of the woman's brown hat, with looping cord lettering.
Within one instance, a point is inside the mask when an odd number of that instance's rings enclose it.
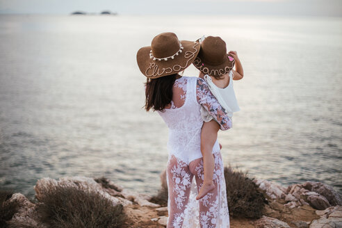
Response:
[[[150,58],[151,46],[140,48],[136,54],[140,72],[149,79],[157,79],[185,70],[197,57],[201,45],[199,42],[188,40],[181,40],[181,45],[184,47],[182,52],[178,56],[174,56],[174,59],[168,58],[168,60]]]

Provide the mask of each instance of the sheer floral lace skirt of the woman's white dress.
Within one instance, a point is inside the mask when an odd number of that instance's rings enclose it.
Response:
[[[168,228],[229,227],[222,157],[220,152],[213,155],[215,188],[199,201],[195,197],[197,189],[201,188],[204,181],[203,158],[192,161],[190,165],[186,165],[175,156],[169,159]]]

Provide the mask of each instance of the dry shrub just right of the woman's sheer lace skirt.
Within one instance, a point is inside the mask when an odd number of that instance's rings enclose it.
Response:
[[[261,218],[266,202],[262,190],[247,173],[225,167],[229,214],[234,217]]]

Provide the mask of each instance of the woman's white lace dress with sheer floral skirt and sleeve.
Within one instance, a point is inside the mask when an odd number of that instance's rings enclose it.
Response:
[[[225,177],[217,140],[213,147],[215,189],[202,199],[195,199],[204,181],[200,150],[201,105],[213,115],[222,130],[231,128],[231,119],[225,109],[206,82],[196,77],[177,79],[170,107],[158,111],[169,128],[168,228],[229,227]]]

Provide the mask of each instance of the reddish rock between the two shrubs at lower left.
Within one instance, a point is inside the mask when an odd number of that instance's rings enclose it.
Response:
[[[47,225],[39,222],[37,211],[35,211],[35,204],[30,202],[24,195],[15,193],[8,200],[10,200],[10,202],[19,202],[18,212],[13,215],[10,221],[8,221],[10,227],[47,227]]]

